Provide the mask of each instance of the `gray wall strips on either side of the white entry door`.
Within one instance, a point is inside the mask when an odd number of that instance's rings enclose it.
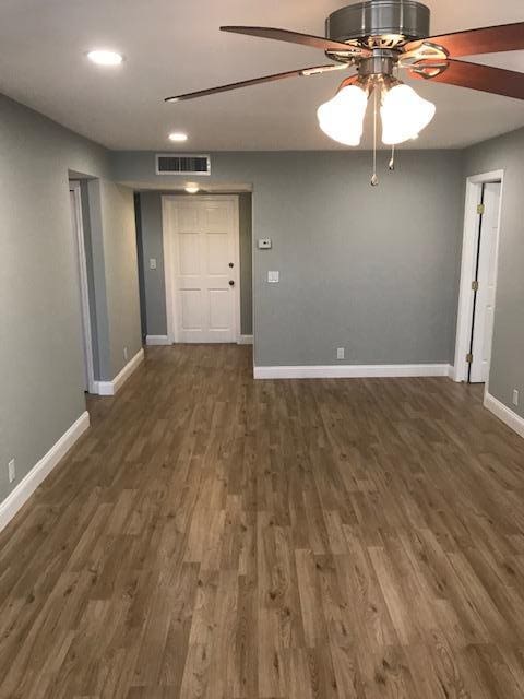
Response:
[[[172,192],[169,192],[172,196]],[[240,324],[242,335],[253,333],[253,276],[251,194],[238,197],[240,237]],[[164,246],[162,221],[162,192],[140,193],[139,239],[144,259],[143,296],[145,297],[145,319],[147,335],[167,335],[166,284],[164,273]],[[150,270],[150,259],[157,261],[156,270]]]

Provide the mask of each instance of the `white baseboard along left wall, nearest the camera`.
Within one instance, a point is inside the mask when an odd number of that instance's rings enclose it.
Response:
[[[90,426],[90,414],[82,413],[66,434],[49,449],[29,473],[22,478],[3,502],[0,502],[0,532],[13,519],[21,507],[28,500],[36,488],[51,473],[57,463],[63,459],[76,440]]]

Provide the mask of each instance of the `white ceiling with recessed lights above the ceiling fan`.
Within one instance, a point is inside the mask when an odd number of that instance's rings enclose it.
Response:
[[[224,34],[221,24],[323,34],[344,0],[1,0],[0,91],[118,150],[336,149],[317,107],[341,73],[270,83],[166,105],[168,95],[321,64],[321,51]],[[427,0],[432,33],[524,20],[523,0]],[[115,48],[119,69],[91,64],[91,48]],[[483,57],[524,72],[524,51]],[[475,60],[479,60],[477,58]],[[437,104],[412,147],[458,147],[524,126],[524,102],[417,82]],[[174,130],[190,140],[172,146]],[[368,129],[369,133],[369,129]],[[369,146],[369,139],[362,147]]]

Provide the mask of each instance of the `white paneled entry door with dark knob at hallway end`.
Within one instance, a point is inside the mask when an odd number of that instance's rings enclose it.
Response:
[[[165,206],[175,342],[236,342],[237,201],[226,197],[171,197],[166,198]]]

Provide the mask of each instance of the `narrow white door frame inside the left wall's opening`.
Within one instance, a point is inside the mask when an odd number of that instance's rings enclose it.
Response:
[[[95,384],[95,368],[93,362],[93,331],[91,328],[90,312],[90,286],[87,276],[87,260],[85,252],[84,223],[82,217],[82,190],[79,181],[70,180],[69,191],[73,193],[74,217],[76,223],[76,250],[80,279],[80,298],[82,313],[82,342],[84,344],[84,355],[87,369],[87,391],[97,393]]]

